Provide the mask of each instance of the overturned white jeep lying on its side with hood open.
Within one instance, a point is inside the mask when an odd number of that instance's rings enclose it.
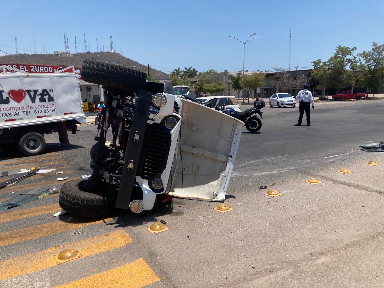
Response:
[[[117,63],[88,58],[81,76],[104,85],[106,107],[91,149],[93,174],[63,185],[61,208],[101,217],[115,207],[151,210],[161,194],[225,199],[243,122],[176,99],[169,82],[147,82],[145,73]]]

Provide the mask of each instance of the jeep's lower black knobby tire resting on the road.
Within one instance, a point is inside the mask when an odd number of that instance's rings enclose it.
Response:
[[[115,209],[117,193],[112,184],[103,185],[95,193],[83,191],[88,180],[66,182],[60,190],[59,205],[66,212],[82,217],[106,217]]]

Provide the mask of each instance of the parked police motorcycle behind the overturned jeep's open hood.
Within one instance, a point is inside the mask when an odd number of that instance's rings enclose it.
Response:
[[[243,121],[245,128],[247,128],[249,132],[255,133],[262,127],[262,121],[257,117],[257,114],[259,114],[260,117],[263,118],[263,112],[260,111],[260,109],[249,108],[243,112],[237,112],[233,108],[225,107],[225,104],[220,108],[216,106],[215,109]]]

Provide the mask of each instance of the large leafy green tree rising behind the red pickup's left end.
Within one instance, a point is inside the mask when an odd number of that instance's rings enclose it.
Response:
[[[358,68],[358,61],[353,52],[356,47],[337,46],[334,55],[328,61],[321,59],[312,62],[311,76],[319,81],[320,88],[353,87],[356,83],[354,71]]]

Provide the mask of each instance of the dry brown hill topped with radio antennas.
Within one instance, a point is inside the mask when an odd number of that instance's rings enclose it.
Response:
[[[33,64],[33,65],[52,65],[52,66],[75,66],[81,67],[85,58],[97,58],[101,60],[114,61],[129,67],[136,66],[137,70],[147,72],[147,66],[122,56],[119,53],[94,52],[94,53],[77,53],[72,56],[55,56],[53,54],[15,54],[0,57],[0,63],[10,64]],[[169,79],[169,74],[151,69],[149,74],[154,79]]]

